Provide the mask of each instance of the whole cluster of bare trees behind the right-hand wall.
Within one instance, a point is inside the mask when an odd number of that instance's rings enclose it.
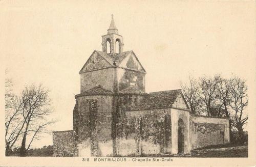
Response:
[[[248,105],[245,80],[238,77],[225,79],[220,74],[199,79],[189,76],[189,82],[181,84],[181,88],[192,114],[229,118],[230,139],[233,140],[233,129],[238,130],[238,141],[242,141],[244,125],[248,121],[244,112]]]

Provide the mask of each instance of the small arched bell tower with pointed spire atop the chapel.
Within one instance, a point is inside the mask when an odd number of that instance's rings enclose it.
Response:
[[[118,34],[114,21],[114,15],[112,14],[111,16],[112,19],[108,33],[102,36],[102,51],[105,53],[121,53],[123,52],[123,37]]]

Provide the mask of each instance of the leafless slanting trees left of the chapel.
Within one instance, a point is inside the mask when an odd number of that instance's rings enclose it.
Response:
[[[42,133],[48,133],[47,126],[55,121],[49,121],[51,114],[49,91],[42,86],[26,87],[22,95],[17,97],[12,92],[12,79],[5,72],[5,143],[6,156],[11,148],[22,137],[20,156],[25,156],[32,142],[39,139]],[[27,139],[28,138],[28,139]],[[26,141],[28,147],[26,148]]]

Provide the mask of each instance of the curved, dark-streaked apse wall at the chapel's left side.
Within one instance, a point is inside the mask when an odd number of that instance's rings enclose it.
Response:
[[[74,129],[77,131],[78,156],[112,154],[112,96],[77,98]]]

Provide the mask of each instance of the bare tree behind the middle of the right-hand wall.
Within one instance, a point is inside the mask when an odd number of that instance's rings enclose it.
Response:
[[[221,114],[221,104],[218,100],[218,86],[221,80],[219,74],[211,77],[199,78],[197,94],[197,104],[202,112],[208,116],[219,116]]]

